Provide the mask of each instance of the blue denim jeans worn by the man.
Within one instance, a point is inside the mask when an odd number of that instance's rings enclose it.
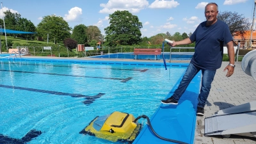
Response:
[[[188,88],[189,83],[196,76],[196,74],[202,70],[202,86],[200,89],[200,94],[198,95],[198,107],[204,108],[205,102],[211,90],[211,83],[214,79],[216,70],[204,70],[200,67],[196,67],[192,63],[189,63],[188,68],[180,81],[178,88],[173,93],[172,97],[175,100],[179,100],[182,94]]]

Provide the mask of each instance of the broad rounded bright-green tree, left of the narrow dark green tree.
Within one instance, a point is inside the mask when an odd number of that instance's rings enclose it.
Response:
[[[60,43],[65,38],[70,37],[71,28],[63,17],[56,15],[47,15],[43,17],[42,21],[37,26],[38,36],[47,40],[47,34],[49,34],[49,41]]]

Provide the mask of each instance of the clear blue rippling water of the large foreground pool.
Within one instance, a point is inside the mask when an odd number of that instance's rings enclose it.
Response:
[[[28,143],[113,143],[79,134],[113,111],[152,116],[186,64],[118,61],[0,61],[0,136]]]

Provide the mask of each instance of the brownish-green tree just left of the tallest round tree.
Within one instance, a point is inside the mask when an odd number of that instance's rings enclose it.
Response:
[[[88,29],[87,29],[88,43],[90,43],[92,40],[99,42],[100,35],[101,35],[100,29],[97,26],[88,26]],[[93,45],[91,45],[91,46],[93,46]]]

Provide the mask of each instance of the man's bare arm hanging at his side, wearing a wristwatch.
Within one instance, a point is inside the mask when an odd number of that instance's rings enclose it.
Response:
[[[235,65],[235,51],[234,51],[233,40],[228,42],[227,49],[228,49],[229,63],[232,65]],[[226,77],[230,77],[234,73],[234,67],[232,67],[230,65],[227,65],[227,67],[225,67],[224,71],[225,70],[228,70]]]

